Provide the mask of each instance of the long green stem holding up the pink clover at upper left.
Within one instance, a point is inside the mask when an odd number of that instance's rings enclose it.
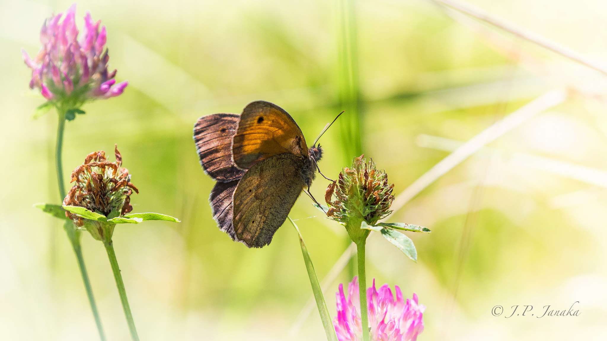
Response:
[[[57,107],[57,112],[59,113],[59,124],[57,126],[55,164],[57,170],[57,183],[59,184],[59,195],[61,196],[61,203],[63,203],[63,199],[66,197],[66,186],[63,182],[63,161],[61,154],[63,151],[63,134],[66,128],[66,110]],[[72,248],[76,254],[78,269],[80,269],[80,275],[82,276],[82,280],[84,282],[84,290],[86,291],[86,295],[89,299],[90,310],[93,312],[93,318],[95,319],[95,325],[97,325],[99,338],[101,341],[106,341],[103,326],[101,326],[101,317],[99,316],[97,303],[95,302],[95,297],[93,296],[93,288],[90,285],[89,273],[86,271],[86,266],[84,265],[84,257],[82,255],[82,248],[80,245],[80,231],[76,230],[75,226],[71,222],[69,222],[69,225],[64,225],[64,229],[66,230],[67,237],[72,243]]]

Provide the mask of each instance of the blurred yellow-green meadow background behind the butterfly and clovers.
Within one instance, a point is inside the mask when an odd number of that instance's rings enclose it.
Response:
[[[605,2],[472,2],[607,60]],[[44,18],[70,4],[0,0],[2,340],[98,339],[61,223],[32,207],[58,203],[57,118],[52,111],[30,120],[44,100],[30,95],[30,70],[19,52],[24,47],[35,55]],[[449,154],[452,140],[469,140],[557,87],[571,90],[569,100],[498,138],[493,149],[459,164],[390,217],[432,229],[408,234],[417,264],[371,235],[367,275],[401,286],[407,297],[419,295],[427,306],[419,340],[605,337],[605,76],[488,27],[474,32],[470,27],[478,25],[467,27],[431,2],[357,0],[353,16],[344,11],[348,4],[78,2],[78,25],[85,10],[106,25],[110,69],[117,68],[118,81],[127,79],[129,86],[118,98],[87,104],[86,115],[67,123],[66,179],[89,152],[109,152],[117,143],[140,189],[131,198],[134,211],[183,221],[119,225],[115,231],[141,339],[288,340],[311,295],[290,225],[263,249],[247,249],[217,229],[208,205],[214,183],[200,169],[192,141],[198,117],[272,101],[311,143],[337,113],[350,109],[320,140],[321,169],[336,177],[360,144],[399,194]],[[344,27],[356,35],[348,38]],[[349,90],[343,88],[344,56],[358,66]],[[354,140],[344,138],[349,124]],[[327,184],[316,180],[316,198]],[[347,246],[347,235],[320,217],[305,195],[291,217],[299,219],[322,279]],[[128,340],[103,246],[84,234],[83,248],[107,338]],[[325,294],[331,314],[337,285],[348,276],[342,272]],[[568,309],[576,301],[577,317],[491,314],[496,305],[506,312],[532,305],[539,313],[546,305]],[[316,309],[293,339],[324,339]]]

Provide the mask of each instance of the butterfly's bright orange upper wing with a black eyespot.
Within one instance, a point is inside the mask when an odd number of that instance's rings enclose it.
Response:
[[[236,166],[249,169],[274,155],[291,153],[308,157],[304,134],[285,110],[266,101],[254,101],[243,109],[232,155]]]

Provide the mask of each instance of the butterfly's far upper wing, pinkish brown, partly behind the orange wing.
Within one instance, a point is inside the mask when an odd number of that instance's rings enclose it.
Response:
[[[194,141],[200,165],[217,181],[232,181],[245,174],[232,162],[232,137],[239,116],[236,113],[214,113],[202,116],[194,125]]]

